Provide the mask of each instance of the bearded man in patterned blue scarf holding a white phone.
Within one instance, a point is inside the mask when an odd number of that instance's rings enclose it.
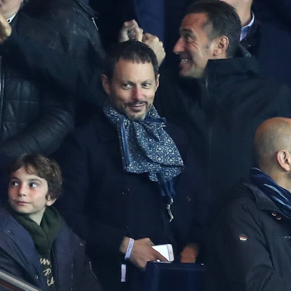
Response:
[[[105,290],[141,290],[147,261],[165,261],[151,245],[171,243],[178,261],[196,259],[203,234],[195,165],[183,131],[153,106],[158,62],[147,45],[116,46],[102,81],[103,114],[60,148],[59,209],[87,240]]]

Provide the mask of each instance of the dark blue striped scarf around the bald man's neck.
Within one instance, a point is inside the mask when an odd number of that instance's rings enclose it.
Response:
[[[288,190],[257,168],[250,169],[250,179],[276,204],[282,214],[291,218],[291,193]]]

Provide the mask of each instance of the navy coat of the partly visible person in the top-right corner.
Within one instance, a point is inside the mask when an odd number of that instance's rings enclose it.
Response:
[[[255,22],[241,44],[257,58],[261,74],[291,88],[291,3],[254,0]]]

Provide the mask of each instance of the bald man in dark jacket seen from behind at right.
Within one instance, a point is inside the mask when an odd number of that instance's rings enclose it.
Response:
[[[257,168],[229,193],[210,237],[208,290],[291,290],[291,119],[254,137]]]

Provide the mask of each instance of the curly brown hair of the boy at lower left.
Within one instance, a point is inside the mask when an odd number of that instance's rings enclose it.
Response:
[[[62,192],[62,174],[59,165],[41,154],[23,154],[16,158],[7,168],[8,176],[25,167],[29,174],[45,179],[48,183],[50,199],[57,199]]]

